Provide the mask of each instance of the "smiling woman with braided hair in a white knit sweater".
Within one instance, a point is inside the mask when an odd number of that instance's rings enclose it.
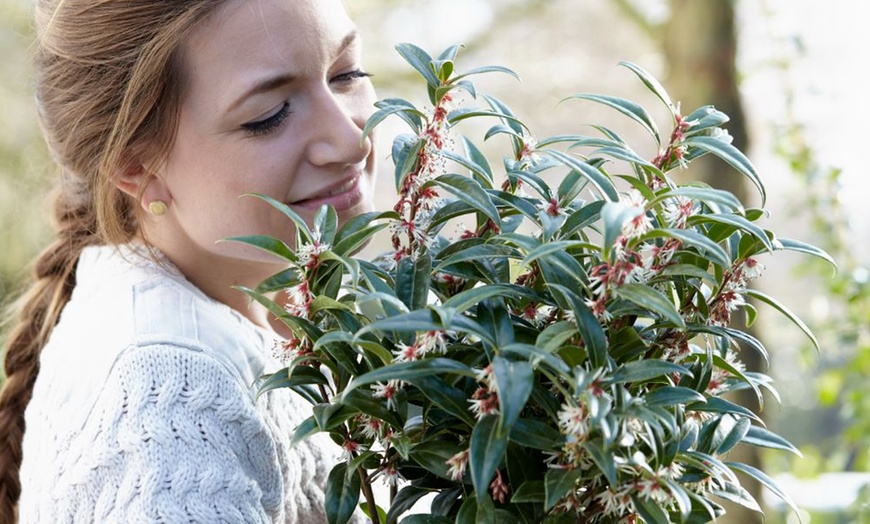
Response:
[[[292,242],[246,193],[370,210],[352,22],[339,0],[43,0],[36,20],[63,177],[7,344],[0,522],[16,502],[22,522],[325,520],[330,448],[289,449],[305,405],[255,398],[281,326],[233,289],[282,267],[221,240]]]

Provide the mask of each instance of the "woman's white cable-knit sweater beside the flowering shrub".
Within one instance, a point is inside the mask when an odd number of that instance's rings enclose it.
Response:
[[[325,522],[333,444],[289,448],[310,406],[273,340],[164,261],[88,248],[26,411],[23,523]]]

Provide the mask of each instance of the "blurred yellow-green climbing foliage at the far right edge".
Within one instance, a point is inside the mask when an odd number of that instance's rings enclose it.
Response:
[[[782,67],[788,67],[788,62]],[[794,116],[794,93],[788,95],[789,119],[779,130],[777,153],[800,183],[793,212],[809,220],[814,241],[839,266],[833,276],[813,263],[797,268],[797,277],[813,280],[821,288],[826,310],[814,326],[826,348],[815,383],[818,402],[822,408],[834,409],[838,422],[845,425],[841,434],[808,446],[808,453],[818,451],[824,458],[816,471],[806,473],[866,472],[870,471],[870,271],[853,246],[858,239],[840,199],[842,171],[818,160],[805,124]]]

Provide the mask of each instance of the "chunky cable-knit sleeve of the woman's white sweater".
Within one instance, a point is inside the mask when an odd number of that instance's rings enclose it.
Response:
[[[174,346],[130,348],[70,443],[53,521],[280,520],[277,460],[249,391],[224,365]]]

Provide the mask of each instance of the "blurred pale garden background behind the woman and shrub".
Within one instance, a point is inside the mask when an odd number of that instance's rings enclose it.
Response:
[[[381,97],[424,104],[420,81],[393,51],[412,42],[431,54],[462,43],[460,69],[503,65],[521,77],[478,77],[478,89],[507,103],[543,138],[612,127],[646,143],[619,114],[563,98],[581,92],[664,108],[627,69],[634,62],[682,102],[683,114],[713,104],[732,118],[734,143],[748,152],[768,188],[765,227],[827,250],[839,270],[778,254],[759,287],[781,299],[818,336],[817,353],[776,311],[759,306],[752,329],[771,353],[781,399],[765,402],[768,427],[802,456],[745,449],[775,475],[801,508],[765,502],[769,523],[870,522],[870,173],[864,160],[870,104],[865,88],[870,4],[849,0],[348,0],[366,39],[365,68]],[[46,200],[56,172],[39,135],[29,51],[31,2],[0,0],[0,303],[29,275],[30,260],[51,234]],[[864,64],[863,66],[861,64]],[[658,105],[657,105],[658,104]],[[395,190],[387,166],[390,122],[380,132],[381,207]],[[481,137],[475,137],[480,139]],[[651,158],[652,143],[641,152]],[[499,159],[494,159],[497,165]],[[753,205],[739,176],[711,162],[694,179],[728,189]],[[378,246],[370,248],[376,250]],[[3,332],[0,330],[0,339]],[[745,356],[751,356],[746,355]],[[761,363],[750,363],[760,369]],[[2,381],[2,374],[0,374]],[[748,405],[754,400],[744,400]],[[729,507],[727,522],[762,522]]]

